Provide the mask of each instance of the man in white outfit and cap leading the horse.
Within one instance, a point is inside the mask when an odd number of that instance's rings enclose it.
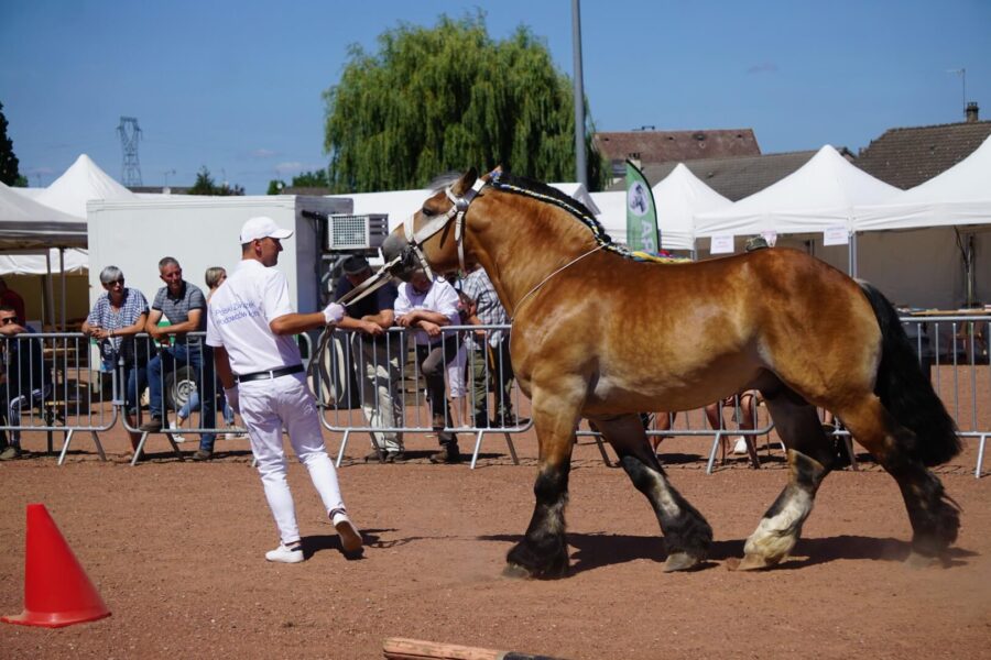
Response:
[[[251,451],[279,527],[279,548],[269,561],[304,560],[296,512],[286,481],[282,430],[320,495],[346,556],[361,551],[361,535],[348,518],[334,463],[324,449],[320,421],[306,386],[300,349],[293,336],[344,317],[331,302],[323,311],[297,314],[285,275],[274,266],[282,241],[293,235],[271,218],[251,218],[241,229],[241,263],[210,298],[207,344],[214,346],[217,375],[230,407],[241,414]]]

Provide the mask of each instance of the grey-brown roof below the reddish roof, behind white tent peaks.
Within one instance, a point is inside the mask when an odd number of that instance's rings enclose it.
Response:
[[[803,151],[736,158],[704,158],[685,161],[685,166],[707,186],[737,201],[777,183],[805,165],[814,155],[815,151]],[[677,162],[644,165],[643,175],[651,186],[655,186],[676,165]],[[622,190],[624,187],[625,182],[620,180],[609,189]]]

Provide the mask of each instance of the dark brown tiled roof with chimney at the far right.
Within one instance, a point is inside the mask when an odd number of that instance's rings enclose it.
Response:
[[[988,135],[991,121],[891,129],[853,164],[892,186],[913,188],[969,156]]]

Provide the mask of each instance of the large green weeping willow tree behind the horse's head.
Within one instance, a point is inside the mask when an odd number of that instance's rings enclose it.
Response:
[[[433,29],[401,24],[378,43],[375,54],[352,45],[340,82],[324,92],[331,190],[418,188],[442,173],[500,164],[575,179],[571,81],[527,28],[493,41],[481,12],[442,15]],[[587,134],[588,180],[598,189],[602,160],[590,127]]]

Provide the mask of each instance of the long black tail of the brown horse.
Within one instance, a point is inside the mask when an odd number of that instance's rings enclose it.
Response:
[[[960,452],[957,425],[918,363],[899,312],[874,286],[859,283],[881,326],[881,364],[874,394],[914,436],[899,436],[900,449],[926,465],[946,463]]]

